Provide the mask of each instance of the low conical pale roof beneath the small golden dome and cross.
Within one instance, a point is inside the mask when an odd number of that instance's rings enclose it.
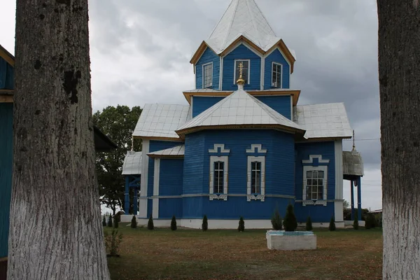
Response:
[[[237,90],[178,130],[218,125],[281,125],[304,130],[244,90]]]

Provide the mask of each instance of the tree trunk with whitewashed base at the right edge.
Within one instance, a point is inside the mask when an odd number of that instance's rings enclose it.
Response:
[[[420,275],[420,6],[378,0],[384,279]]]

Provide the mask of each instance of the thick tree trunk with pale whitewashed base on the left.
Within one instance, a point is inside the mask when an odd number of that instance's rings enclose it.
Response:
[[[87,0],[18,0],[8,279],[109,279]]]

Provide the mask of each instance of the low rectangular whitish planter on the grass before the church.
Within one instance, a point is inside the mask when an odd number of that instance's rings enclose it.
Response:
[[[316,235],[314,232],[285,232],[267,230],[267,248],[270,250],[298,251],[315,250]]]

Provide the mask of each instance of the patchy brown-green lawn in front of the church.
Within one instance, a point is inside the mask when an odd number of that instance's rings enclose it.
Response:
[[[381,279],[382,232],[315,230],[314,251],[270,251],[265,230],[133,230],[111,279]],[[245,222],[246,226],[246,222]],[[106,228],[110,231],[110,228]]]

